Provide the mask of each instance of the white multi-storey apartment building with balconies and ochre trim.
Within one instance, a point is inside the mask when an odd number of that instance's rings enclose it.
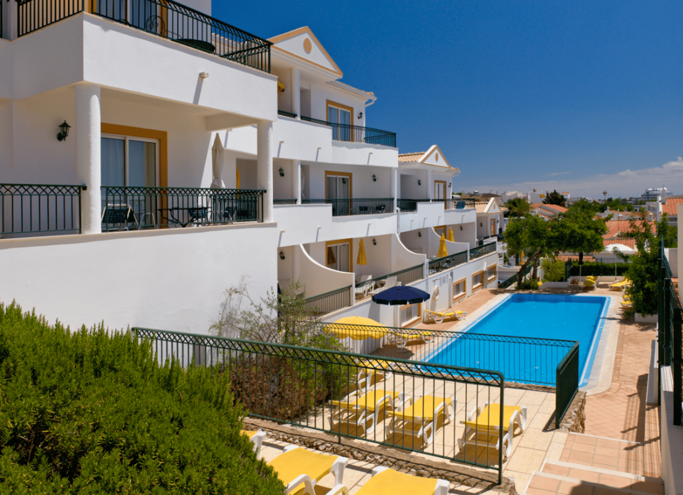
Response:
[[[413,284],[441,309],[497,283],[475,205],[450,199],[458,168],[367,127],[375,95],[307,27],[265,40],[206,0],[1,12],[3,303],[204,333],[230,286],[258,300],[299,280],[322,318],[409,325],[423,308],[370,295]]]

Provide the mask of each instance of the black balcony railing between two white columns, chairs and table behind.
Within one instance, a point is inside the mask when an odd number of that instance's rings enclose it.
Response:
[[[102,186],[102,231],[263,222],[264,190]]]

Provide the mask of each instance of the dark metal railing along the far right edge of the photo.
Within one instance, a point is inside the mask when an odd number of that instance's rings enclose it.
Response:
[[[669,260],[664,249],[664,238],[662,238],[659,244],[657,281],[659,383],[661,387],[661,367],[670,366],[673,381],[673,424],[681,426],[683,419],[683,342],[681,338],[683,308],[675,285],[671,282],[671,267],[669,267]]]

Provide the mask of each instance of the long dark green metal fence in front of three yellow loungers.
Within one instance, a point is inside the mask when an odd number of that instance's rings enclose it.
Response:
[[[184,367],[205,366],[229,381],[234,398],[250,418],[311,428],[341,437],[359,438],[393,449],[418,451],[434,458],[492,468],[502,477],[503,435],[490,441],[476,432],[479,421],[503,423],[505,378],[499,372],[453,365],[376,358],[338,349],[305,348],[134,328],[133,338],[148,340],[160,363],[175,360]],[[320,335],[324,338],[326,333]],[[359,419],[360,395],[385,398],[378,414]],[[419,400],[424,396],[427,400]],[[430,404],[430,400],[434,404]],[[373,404],[376,402],[373,400]],[[473,417],[474,431],[466,432],[459,447],[462,411],[484,404],[501,405],[500,416]],[[413,404],[413,421],[400,411]],[[429,405],[428,405],[429,404]],[[396,414],[394,414],[396,413]],[[430,417],[432,419],[430,419]],[[423,428],[415,421],[423,420]],[[367,419],[367,421],[366,421]],[[483,445],[482,445],[483,444]]]

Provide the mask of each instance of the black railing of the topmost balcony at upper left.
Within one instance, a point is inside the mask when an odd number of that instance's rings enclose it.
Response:
[[[85,8],[98,16],[270,72],[270,43],[173,0],[18,0],[23,36]]]

